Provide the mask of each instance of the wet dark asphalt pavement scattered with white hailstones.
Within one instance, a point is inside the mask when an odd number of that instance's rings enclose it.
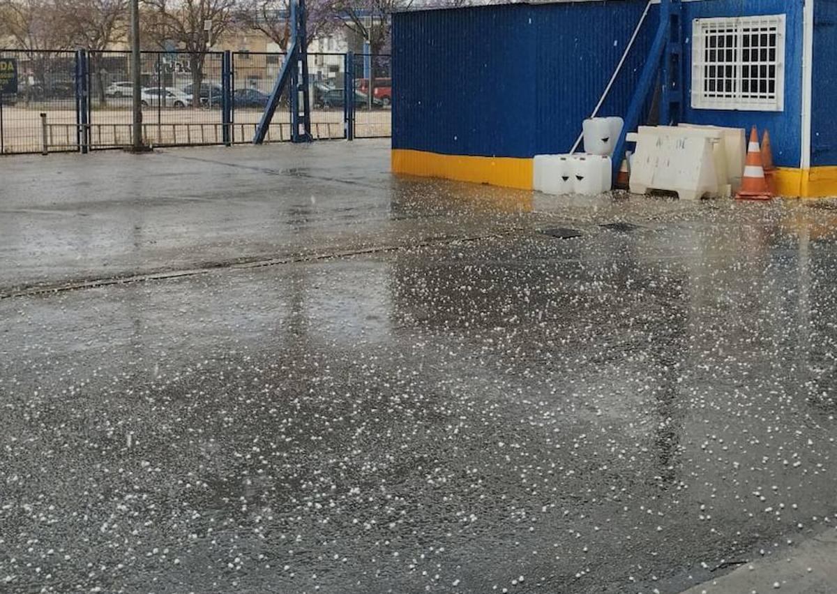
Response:
[[[677,592],[834,529],[837,204],[387,159],[8,160],[0,590]]]

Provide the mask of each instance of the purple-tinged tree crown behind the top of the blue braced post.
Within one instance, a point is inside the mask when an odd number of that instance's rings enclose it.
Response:
[[[306,2],[306,35],[315,39],[333,30],[338,23],[331,0]],[[290,44],[290,0],[243,0],[236,20],[246,28],[259,31],[282,51]]]

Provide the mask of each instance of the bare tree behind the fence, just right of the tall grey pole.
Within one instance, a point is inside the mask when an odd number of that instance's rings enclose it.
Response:
[[[200,105],[206,53],[233,21],[235,0],[142,0],[146,5],[146,36],[161,48],[177,44],[189,56],[193,106]]]

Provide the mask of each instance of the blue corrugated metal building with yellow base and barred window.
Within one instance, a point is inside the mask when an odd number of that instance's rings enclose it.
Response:
[[[393,171],[531,188],[532,157],[570,151],[646,5],[394,15]],[[600,115],[624,116],[658,22],[652,5]],[[683,3],[680,121],[766,128],[783,194],[837,194],[835,25],[837,0]]]

